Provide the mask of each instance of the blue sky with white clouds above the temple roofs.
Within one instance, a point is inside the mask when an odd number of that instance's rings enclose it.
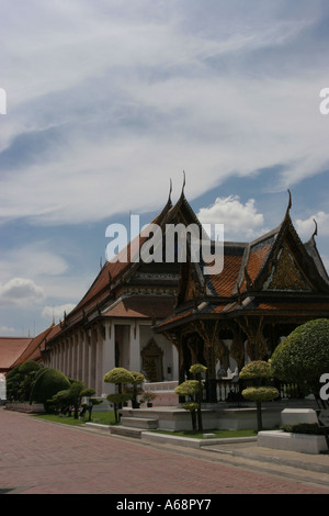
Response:
[[[327,0],[0,10],[0,335],[63,318],[105,262],[106,227],[149,222],[183,172],[227,240],[276,227],[290,189],[329,269]]]

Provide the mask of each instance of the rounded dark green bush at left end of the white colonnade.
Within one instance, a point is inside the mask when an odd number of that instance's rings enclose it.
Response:
[[[36,403],[47,403],[47,400],[59,391],[69,389],[70,382],[58,369],[43,368],[36,374],[36,379],[31,392],[31,400]]]

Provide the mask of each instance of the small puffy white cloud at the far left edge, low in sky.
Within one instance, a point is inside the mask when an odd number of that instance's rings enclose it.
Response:
[[[44,299],[44,290],[34,281],[26,278],[12,278],[5,284],[0,285],[1,304],[26,304],[31,301],[41,302]]]

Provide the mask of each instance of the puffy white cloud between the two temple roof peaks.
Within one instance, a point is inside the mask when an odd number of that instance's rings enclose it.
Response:
[[[247,242],[264,233],[264,216],[257,212],[253,199],[242,204],[237,195],[217,198],[213,205],[202,207],[197,217],[202,224],[224,224],[225,239]]]

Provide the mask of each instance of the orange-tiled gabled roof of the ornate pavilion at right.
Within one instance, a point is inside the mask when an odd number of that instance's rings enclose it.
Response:
[[[291,216],[291,195],[282,224],[249,243],[224,244],[224,270],[203,276],[202,263],[182,266],[174,313],[155,330],[196,319],[240,316],[328,317],[329,278],[315,236],[303,244]]]

